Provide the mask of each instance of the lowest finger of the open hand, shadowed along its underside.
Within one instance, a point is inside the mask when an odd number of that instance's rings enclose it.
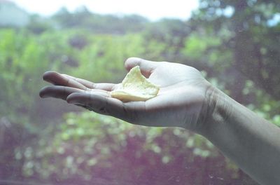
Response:
[[[130,123],[134,123],[134,119],[137,117],[135,116],[134,107],[127,107],[118,99],[105,97],[96,93],[73,93],[66,100],[70,104],[85,107],[85,109],[89,109],[98,114],[114,116]]]

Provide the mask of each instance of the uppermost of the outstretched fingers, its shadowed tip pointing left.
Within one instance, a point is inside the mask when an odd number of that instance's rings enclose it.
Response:
[[[68,86],[71,88],[79,88],[81,90],[87,90],[87,87],[78,81],[73,80],[72,78],[67,78],[62,74],[59,74],[55,71],[47,71],[43,74],[43,79],[54,85]]]

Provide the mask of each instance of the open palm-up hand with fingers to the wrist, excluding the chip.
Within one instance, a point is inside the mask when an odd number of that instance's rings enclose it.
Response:
[[[149,81],[160,85],[158,96],[146,102],[122,102],[110,97],[109,92],[120,83],[91,83],[54,71],[43,75],[54,85],[43,88],[40,96],[66,100],[137,125],[181,127],[200,133],[204,128],[202,117],[207,112],[202,107],[208,102],[206,95],[211,87],[200,71],[183,64],[134,57],[125,62],[127,71],[137,65]]]

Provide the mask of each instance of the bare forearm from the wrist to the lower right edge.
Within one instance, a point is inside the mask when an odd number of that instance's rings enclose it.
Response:
[[[260,184],[280,184],[280,129],[214,90],[204,136]]]

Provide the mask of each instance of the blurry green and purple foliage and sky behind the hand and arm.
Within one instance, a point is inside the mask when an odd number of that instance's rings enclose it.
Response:
[[[256,184],[192,132],[38,92],[48,70],[120,82],[136,56],[196,67],[280,125],[279,2],[79,2],[0,0],[0,184]]]

